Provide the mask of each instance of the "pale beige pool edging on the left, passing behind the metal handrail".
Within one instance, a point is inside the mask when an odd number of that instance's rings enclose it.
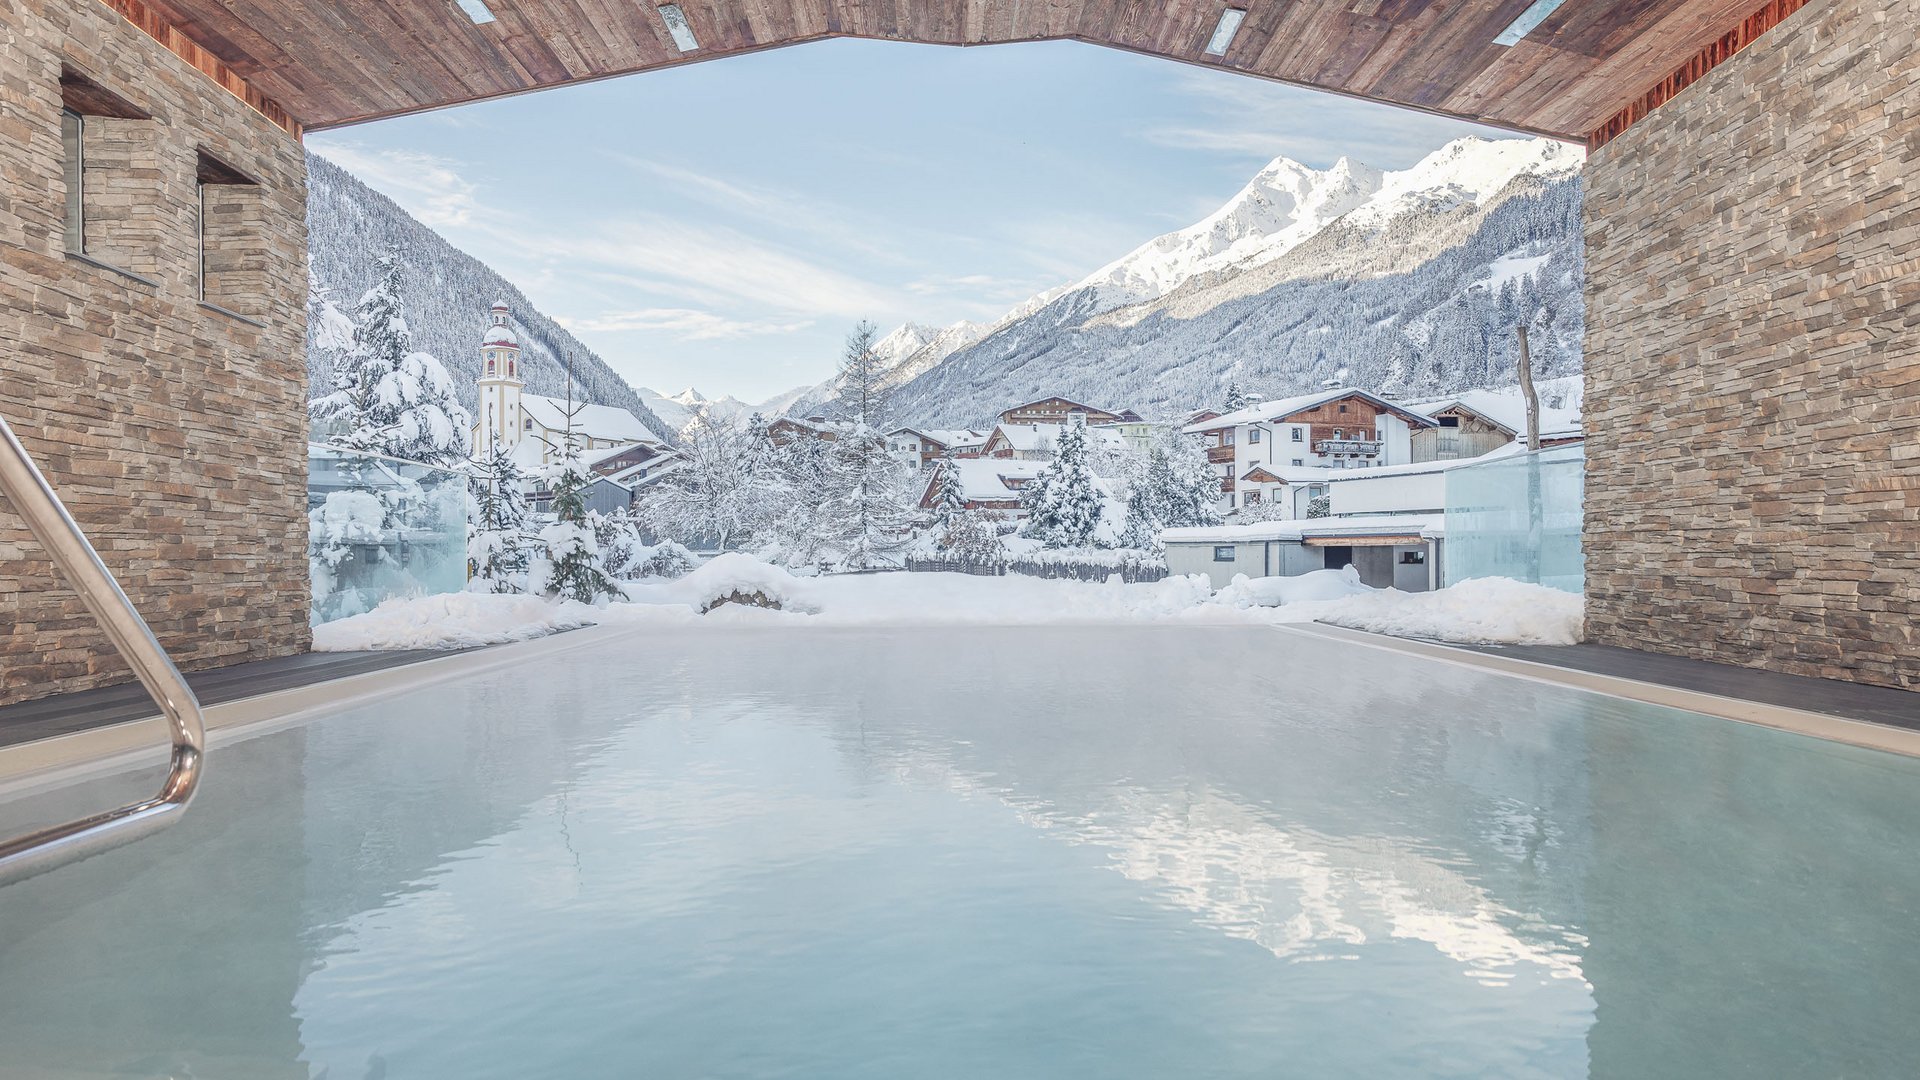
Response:
[[[574,650],[599,638],[620,636],[628,626],[582,626],[566,634],[547,634],[526,642],[447,651],[397,667],[271,690],[207,705],[207,748],[257,738],[319,719],[342,707],[371,701],[478,675],[509,665],[538,663],[555,651]],[[117,773],[142,763],[167,761],[167,728],[161,717],[142,717],[96,728],[58,734],[0,748],[0,799],[60,788],[94,774]]]

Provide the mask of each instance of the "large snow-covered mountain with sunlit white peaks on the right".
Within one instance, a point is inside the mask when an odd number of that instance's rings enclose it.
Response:
[[[1181,415],[1229,384],[1329,379],[1438,396],[1513,382],[1519,311],[1540,375],[1576,373],[1582,161],[1528,138],[1461,138],[1400,171],[1277,158],[1206,219],[985,327],[887,334],[895,413],[966,427],[1066,394]]]

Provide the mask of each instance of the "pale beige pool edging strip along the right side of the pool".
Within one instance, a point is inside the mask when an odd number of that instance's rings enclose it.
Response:
[[[1620,698],[1626,701],[1640,701],[1645,705],[1665,705],[1670,709],[1682,709],[1688,713],[1699,713],[1722,721],[1736,721],[1743,724],[1755,724],[1763,728],[1822,738],[1828,742],[1839,742],[1864,749],[1880,749],[1885,753],[1899,753],[1905,757],[1920,757],[1920,730],[1897,728],[1874,721],[1857,721],[1851,717],[1837,717],[1832,713],[1816,713],[1812,709],[1795,709],[1791,705],[1774,705],[1768,701],[1749,701],[1745,698],[1728,698],[1724,694],[1707,694],[1701,690],[1682,690],[1678,686],[1667,686],[1661,682],[1644,682],[1620,675],[1601,675],[1576,667],[1557,667],[1551,663],[1488,653],[1467,646],[1450,646],[1444,642],[1428,642],[1417,638],[1394,638],[1388,634],[1373,634],[1367,630],[1350,630],[1346,626],[1329,626],[1325,623],[1277,623],[1273,628],[1294,634],[1308,634],[1313,638],[1331,638],[1363,648],[1396,651],[1402,655],[1417,655],[1440,663],[1453,663],[1459,667],[1490,671],[1511,678],[1546,682],[1549,686],[1588,690],[1592,694],[1605,694],[1607,698]]]

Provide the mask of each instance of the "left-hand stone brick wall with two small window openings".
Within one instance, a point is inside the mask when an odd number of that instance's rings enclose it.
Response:
[[[61,67],[150,121],[88,117],[69,258]],[[259,181],[221,263],[253,327],[200,304],[200,152]],[[305,165],[98,0],[0,8],[0,415],[182,667],[303,651]],[[0,703],[127,678],[0,500]]]

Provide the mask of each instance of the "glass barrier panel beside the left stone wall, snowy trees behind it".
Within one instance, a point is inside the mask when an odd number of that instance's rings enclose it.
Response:
[[[382,600],[467,588],[467,477],[307,446],[307,573],[317,626]]]

